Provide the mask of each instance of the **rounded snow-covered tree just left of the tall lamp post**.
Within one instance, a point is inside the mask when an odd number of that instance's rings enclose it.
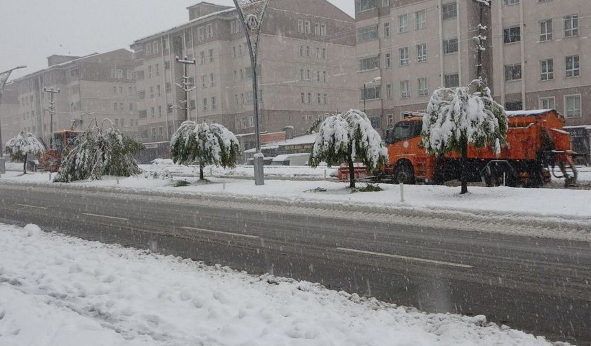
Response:
[[[203,180],[205,165],[233,168],[240,156],[236,136],[220,124],[183,122],[170,139],[172,161],[189,165],[199,161],[199,179]]]

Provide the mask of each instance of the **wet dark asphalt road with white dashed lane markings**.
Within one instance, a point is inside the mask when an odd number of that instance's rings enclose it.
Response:
[[[535,229],[520,222],[60,185],[0,184],[0,200],[3,222],[591,341],[589,242],[494,231]]]

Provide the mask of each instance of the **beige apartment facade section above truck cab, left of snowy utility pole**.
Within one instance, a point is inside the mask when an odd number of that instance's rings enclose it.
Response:
[[[476,77],[474,1],[355,0],[355,12],[357,100],[374,128],[385,130],[407,111],[424,111],[438,87]],[[485,16],[484,25],[489,21]],[[482,76],[491,86],[492,70],[485,55]]]

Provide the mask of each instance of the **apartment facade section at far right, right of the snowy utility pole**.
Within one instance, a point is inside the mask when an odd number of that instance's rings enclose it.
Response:
[[[493,1],[497,97],[507,109],[555,108],[566,125],[591,125],[588,0]]]

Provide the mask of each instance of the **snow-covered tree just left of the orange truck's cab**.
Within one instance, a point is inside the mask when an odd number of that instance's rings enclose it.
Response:
[[[349,166],[349,187],[355,187],[355,161],[364,163],[370,172],[388,164],[388,150],[383,146],[379,133],[361,111],[352,109],[326,117],[320,124],[310,154],[310,165],[317,167],[326,162],[331,167],[346,162]]]

